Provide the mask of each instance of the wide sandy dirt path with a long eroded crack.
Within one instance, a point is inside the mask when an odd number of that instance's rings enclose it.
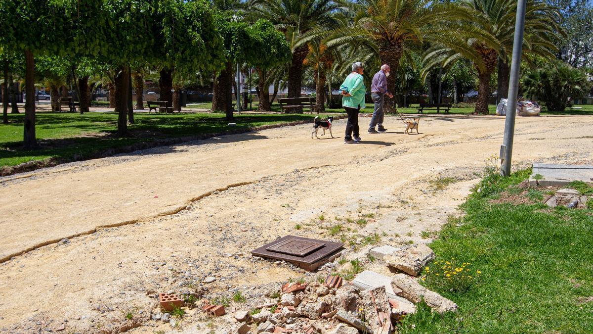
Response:
[[[591,163],[592,121],[519,118],[515,162]],[[30,250],[0,264],[0,329],[66,319],[69,330],[93,332],[126,310],[148,317],[157,292],[206,276],[217,277],[211,291],[288,279],[294,269],[248,252],[286,234],[339,239],[327,230],[337,223],[356,230],[352,240],[377,232],[391,244],[428,242],[420,233],[462,203],[498,152],[503,123],[425,117],[419,135],[404,136],[389,117],[395,131],[363,133],[356,145],[311,140],[311,125],[299,125],[0,178],[0,258]],[[342,135],[344,121],[334,126]],[[431,190],[439,176],[457,182]],[[365,215],[374,218],[356,225]],[[56,243],[79,234],[88,235]]]

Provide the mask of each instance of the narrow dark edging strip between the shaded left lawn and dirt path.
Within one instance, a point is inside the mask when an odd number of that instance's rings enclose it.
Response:
[[[333,114],[336,115],[336,114]],[[345,119],[347,115],[337,114],[334,116],[334,119]],[[212,137],[218,136],[226,136],[229,134],[243,134],[243,133],[250,133],[253,131],[261,131],[261,130],[268,130],[273,128],[281,128],[281,127],[294,127],[295,125],[301,124],[308,124],[313,123],[313,118],[307,119],[305,121],[294,121],[294,122],[283,122],[278,124],[269,124],[269,125],[262,125],[261,127],[248,127],[241,130],[226,130],[218,133],[205,133],[196,136],[187,136],[187,137],[178,137],[178,138],[164,138],[164,139],[157,139],[152,141],[145,141],[143,143],[136,143],[129,146],[117,147],[115,149],[107,149],[85,158],[85,159],[45,159],[45,160],[31,160],[28,162],[20,163],[16,166],[4,166],[0,168],[0,177],[8,177],[10,175],[24,173],[24,172],[31,172],[35,171],[36,169],[46,168],[46,167],[53,167],[57,165],[62,165],[63,163],[68,162],[76,162],[76,161],[85,161],[85,160],[92,160],[92,159],[100,159],[102,157],[109,157],[113,155],[117,155],[120,153],[131,153],[136,152],[139,150],[145,149],[152,149],[154,147],[159,146],[168,146],[173,144],[180,144],[185,143],[187,141],[194,141],[194,140],[205,140]],[[3,261],[0,260],[0,263]]]

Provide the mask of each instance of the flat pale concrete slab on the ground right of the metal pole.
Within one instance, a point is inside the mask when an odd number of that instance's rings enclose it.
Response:
[[[593,182],[593,166],[534,163],[529,178],[533,187],[563,187],[572,181]]]

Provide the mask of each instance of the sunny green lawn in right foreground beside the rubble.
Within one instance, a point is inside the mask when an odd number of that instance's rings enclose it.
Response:
[[[449,220],[422,282],[459,309],[421,306],[401,333],[591,333],[593,200],[588,209],[550,209],[541,204],[546,189],[520,184],[530,173],[486,177],[462,206],[466,216]],[[593,196],[583,182],[575,188]],[[464,268],[443,279],[447,261]]]

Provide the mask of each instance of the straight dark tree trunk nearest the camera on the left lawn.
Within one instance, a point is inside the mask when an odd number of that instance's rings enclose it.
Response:
[[[35,137],[35,59],[33,52],[25,51],[25,122],[23,133],[23,144],[25,149],[33,149],[37,146]]]

